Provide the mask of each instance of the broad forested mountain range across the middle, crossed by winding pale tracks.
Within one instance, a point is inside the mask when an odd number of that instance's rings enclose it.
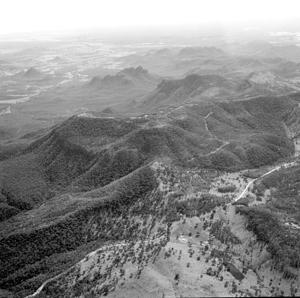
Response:
[[[63,190],[107,185],[156,158],[222,170],[273,163],[293,152],[285,119],[295,107],[286,97],[259,98],[163,115],[71,117],[0,163],[4,218],[10,207],[27,210]]]

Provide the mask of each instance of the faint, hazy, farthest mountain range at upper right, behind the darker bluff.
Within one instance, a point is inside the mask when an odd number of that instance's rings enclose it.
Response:
[[[299,75],[299,47],[250,43],[227,48],[184,47],[149,51],[120,58],[125,66],[142,65],[162,76],[218,74],[241,78],[253,71]]]

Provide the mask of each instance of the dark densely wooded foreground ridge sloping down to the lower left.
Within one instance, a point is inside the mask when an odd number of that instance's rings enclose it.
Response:
[[[30,292],[39,280],[73,265],[93,245],[136,239],[139,224],[133,223],[134,215],[155,186],[151,169],[144,167],[92,193],[61,195],[4,222],[0,287]]]

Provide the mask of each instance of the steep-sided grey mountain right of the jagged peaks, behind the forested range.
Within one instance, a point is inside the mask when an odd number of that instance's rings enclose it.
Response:
[[[249,63],[252,64],[252,61]],[[278,96],[299,90],[300,81],[281,77],[272,71],[246,71],[227,76],[189,74],[183,79],[163,80],[140,106],[146,111],[188,102]]]

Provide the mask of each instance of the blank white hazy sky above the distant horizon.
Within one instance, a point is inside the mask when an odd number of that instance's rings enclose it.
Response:
[[[300,20],[300,0],[0,0],[0,34]]]

